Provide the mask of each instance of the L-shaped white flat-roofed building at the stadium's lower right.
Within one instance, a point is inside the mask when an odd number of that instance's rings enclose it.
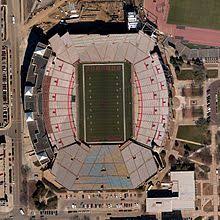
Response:
[[[146,199],[146,212],[172,212],[173,210],[195,209],[194,171],[174,171],[170,173],[171,197]],[[176,196],[178,195],[178,196]]]

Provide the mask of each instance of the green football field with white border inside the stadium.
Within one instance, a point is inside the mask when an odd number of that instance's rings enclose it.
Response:
[[[123,142],[132,134],[128,63],[81,64],[79,137],[88,143]]]

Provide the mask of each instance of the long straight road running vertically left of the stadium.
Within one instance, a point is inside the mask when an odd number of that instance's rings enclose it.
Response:
[[[20,203],[20,191],[21,191],[21,172],[22,165],[22,111],[21,111],[21,95],[20,95],[20,55],[19,55],[19,42],[21,42],[19,36],[20,19],[21,19],[21,4],[22,0],[7,1],[8,6],[8,40],[7,45],[11,49],[11,65],[13,74],[12,89],[12,121],[7,130],[0,131],[1,134],[7,134],[14,139],[14,189],[13,200],[14,209],[12,213],[16,219],[24,219],[19,213]],[[16,23],[12,24],[11,16],[14,15]],[[4,216],[4,215],[3,215]],[[2,217],[2,215],[1,215]]]

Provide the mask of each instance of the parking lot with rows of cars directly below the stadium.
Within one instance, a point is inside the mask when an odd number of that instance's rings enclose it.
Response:
[[[131,192],[98,192],[59,194],[59,210],[69,213],[140,211],[142,194]],[[142,201],[143,200],[143,201]]]

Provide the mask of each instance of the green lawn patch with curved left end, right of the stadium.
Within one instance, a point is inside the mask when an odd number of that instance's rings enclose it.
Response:
[[[177,138],[194,141],[203,144],[204,141],[210,139],[210,135],[207,135],[207,131],[202,130],[196,125],[181,125],[178,128]]]

